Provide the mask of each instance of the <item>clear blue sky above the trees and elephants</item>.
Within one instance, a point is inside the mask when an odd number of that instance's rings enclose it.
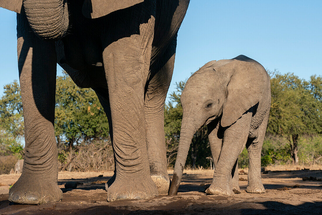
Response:
[[[320,0],[191,0],[178,33],[169,92],[208,61],[241,54],[300,78],[322,75],[321,8]],[[18,79],[16,45],[16,15],[0,8],[0,95]]]

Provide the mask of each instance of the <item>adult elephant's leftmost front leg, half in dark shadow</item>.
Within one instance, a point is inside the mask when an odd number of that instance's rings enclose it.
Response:
[[[42,204],[62,200],[57,184],[57,142],[54,135],[56,53],[30,29],[25,15],[17,15],[18,68],[24,110],[25,158],[9,201]]]

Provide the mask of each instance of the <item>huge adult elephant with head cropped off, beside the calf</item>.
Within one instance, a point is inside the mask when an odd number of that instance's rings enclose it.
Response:
[[[163,107],[189,0],[1,0],[17,12],[23,172],[9,200],[62,200],[54,136],[56,63],[95,90],[109,119],[108,201],[167,193]],[[59,95],[58,95],[59,96]],[[155,183],[154,183],[155,182]]]

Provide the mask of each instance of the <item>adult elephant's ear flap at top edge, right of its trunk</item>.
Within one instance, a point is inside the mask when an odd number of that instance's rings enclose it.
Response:
[[[82,12],[86,18],[95,19],[143,1],[144,0],[85,0]]]

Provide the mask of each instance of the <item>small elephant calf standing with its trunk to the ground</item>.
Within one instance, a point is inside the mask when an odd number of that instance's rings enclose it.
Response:
[[[215,164],[207,194],[239,190],[237,159],[246,146],[249,193],[264,193],[260,153],[270,112],[270,78],[262,65],[240,55],[211,61],[187,81],[181,95],[183,119],[169,195],[177,193],[189,146],[197,129],[208,128]]]

